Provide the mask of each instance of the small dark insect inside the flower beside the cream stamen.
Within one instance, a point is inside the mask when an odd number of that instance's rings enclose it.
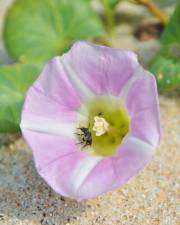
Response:
[[[91,146],[91,144],[92,144],[92,135],[91,135],[91,132],[90,132],[89,128],[87,128],[87,127],[80,127],[78,129],[81,130],[82,134],[77,134],[77,135],[81,136],[82,140],[81,140],[81,142],[79,142],[77,144],[84,144],[82,146],[82,149],[85,148],[88,145]]]

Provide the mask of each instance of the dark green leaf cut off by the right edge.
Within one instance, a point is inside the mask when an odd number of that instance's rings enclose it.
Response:
[[[157,78],[160,90],[180,88],[180,4],[177,4],[174,14],[162,37],[162,47],[150,65],[150,70]]]

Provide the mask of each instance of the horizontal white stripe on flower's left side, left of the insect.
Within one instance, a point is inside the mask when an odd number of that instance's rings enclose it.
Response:
[[[62,121],[45,119],[36,116],[23,119],[20,127],[21,129],[28,129],[53,135],[63,135],[66,137],[74,137],[75,131],[74,123],[62,123]]]

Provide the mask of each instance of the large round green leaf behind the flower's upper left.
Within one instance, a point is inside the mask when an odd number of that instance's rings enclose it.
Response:
[[[102,33],[102,23],[86,0],[15,0],[6,15],[4,41],[15,59],[45,62],[74,40]]]

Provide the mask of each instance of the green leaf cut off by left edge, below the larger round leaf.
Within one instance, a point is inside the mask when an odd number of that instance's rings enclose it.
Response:
[[[25,93],[39,71],[27,64],[0,66],[0,132],[19,130]]]

